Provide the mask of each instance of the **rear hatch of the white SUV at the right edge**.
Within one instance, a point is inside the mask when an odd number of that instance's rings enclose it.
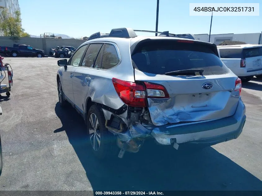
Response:
[[[243,48],[242,56],[246,59],[246,72],[262,70],[262,45]]]

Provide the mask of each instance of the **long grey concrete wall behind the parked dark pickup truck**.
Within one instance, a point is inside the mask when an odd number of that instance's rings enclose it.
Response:
[[[50,39],[50,38],[34,38],[34,37],[21,37],[19,40],[11,40],[10,37],[0,37],[0,46],[13,47],[13,44],[25,44],[33,48],[44,50],[45,54],[49,55],[49,49],[56,46],[73,46],[78,48],[86,40],[76,39]]]

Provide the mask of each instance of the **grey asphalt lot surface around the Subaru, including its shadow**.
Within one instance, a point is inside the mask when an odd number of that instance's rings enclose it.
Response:
[[[55,58],[5,58],[14,71],[2,94],[0,190],[262,190],[262,81],[243,84],[247,120],[235,140],[195,154],[146,142],[101,162],[82,117],[58,102]]]

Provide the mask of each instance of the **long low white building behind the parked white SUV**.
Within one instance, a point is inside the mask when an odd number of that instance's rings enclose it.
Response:
[[[195,36],[200,41],[208,42],[208,34],[195,34]],[[243,41],[247,44],[262,44],[262,32],[261,33],[242,33],[242,34],[214,34],[210,35],[210,42],[215,43],[216,45],[220,44],[223,41]]]

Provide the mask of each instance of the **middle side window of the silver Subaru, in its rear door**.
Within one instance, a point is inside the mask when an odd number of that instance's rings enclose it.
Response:
[[[99,65],[95,64],[95,60],[102,45],[103,45],[102,43],[90,44],[82,62],[83,67],[99,68]]]

